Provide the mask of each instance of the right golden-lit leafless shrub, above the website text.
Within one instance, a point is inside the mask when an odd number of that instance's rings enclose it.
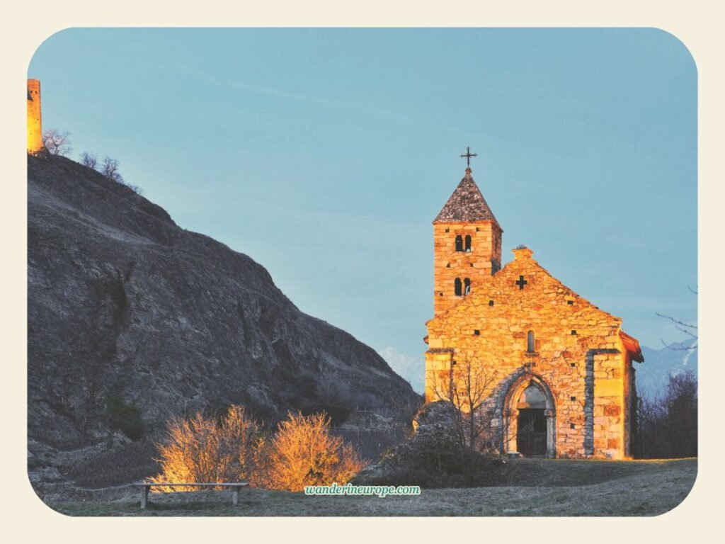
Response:
[[[330,420],[322,413],[288,413],[260,456],[260,487],[302,491],[307,485],[343,485],[365,463],[341,437],[330,433]]]

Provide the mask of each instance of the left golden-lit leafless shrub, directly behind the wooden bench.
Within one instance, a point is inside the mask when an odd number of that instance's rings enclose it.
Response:
[[[262,438],[260,426],[232,405],[221,421],[196,413],[191,419],[167,423],[166,440],[157,444],[161,473],[149,482],[242,482],[254,472]],[[189,491],[194,487],[159,487],[162,491]]]

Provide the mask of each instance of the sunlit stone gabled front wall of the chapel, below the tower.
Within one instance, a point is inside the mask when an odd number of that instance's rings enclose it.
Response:
[[[450,234],[455,236],[453,228]],[[513,262],[474,284],[465,300],[428,321],[426,400],[442,397],[452,368],[455,373],[471,365],[486,376],[487,408],[492,428],[502,430],[504,450],[516,449],[518,395],[534,383],[550,396],[548,455],[629,455],[624,422],[630,362],[619,335],[621,319],[552,278],[531,250],[514,254]]]

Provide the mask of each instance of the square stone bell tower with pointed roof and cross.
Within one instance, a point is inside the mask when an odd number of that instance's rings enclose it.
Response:
[[[476,290],[476,284],[501,268],[503,232],[471,176],[465,176],[433,221],[434,313],[438,316]]]

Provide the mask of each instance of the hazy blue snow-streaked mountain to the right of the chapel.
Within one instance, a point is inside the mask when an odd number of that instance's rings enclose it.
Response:
[[[691,370],[697,377],[696,339],[674,342],[658,350],[642,346],[642,355],[645,355],[645,362],[634,363],[634,368],[637,369],[637,389],[645,395],[651,397],[664,392],[673,374]]]

